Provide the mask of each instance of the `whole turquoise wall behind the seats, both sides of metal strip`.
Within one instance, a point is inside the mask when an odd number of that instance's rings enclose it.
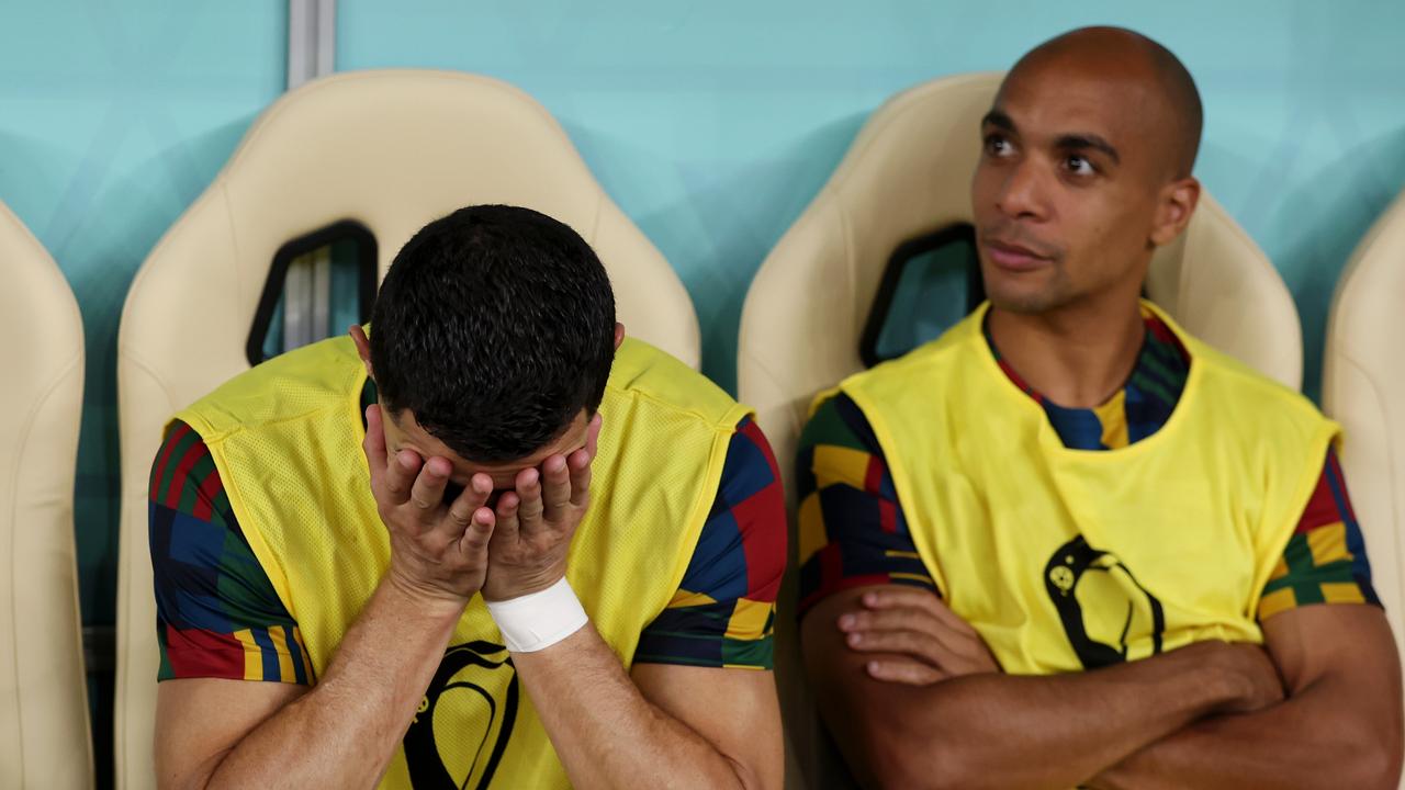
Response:
[[[735,388],[752,274],[867,114],[1094,22],[1161,39],[1198,80],[1197,171],[1291,288],[1315,394],[1340,267],[1405,187],[1398,0],[343,0],[336,62],[481,72],[542,101],[677,268],[704,370]],[[282,0],[0,0],[0,200],[59,261],[87,332],[76,513],[89,624],[114,610],[125,290],[282,91],[285,48]]]

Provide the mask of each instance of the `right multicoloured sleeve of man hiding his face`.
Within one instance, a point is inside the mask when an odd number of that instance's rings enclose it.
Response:
[[[771,669],[785,572],[785,499],[770,443],[736,426],[712,510],[679,592],[639,635],[636,663]]]

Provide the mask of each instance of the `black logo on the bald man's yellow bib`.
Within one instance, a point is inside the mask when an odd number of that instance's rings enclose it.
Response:
[[[1162,649],[1166,614],[1156,596],[1137,582],[1114,554],[1099,551],[1082,536],[1065,543],[1044,566],[1044,589],[1064,623],[1085,669],[1121,663],[1128,647]],[[1145,658],[1137,655],[1134,658]]]

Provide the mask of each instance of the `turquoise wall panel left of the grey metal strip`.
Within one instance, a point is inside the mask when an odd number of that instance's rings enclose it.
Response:
[[[74,499],[86,623],[114,617],[126,287],[282,91],[285,52],[280,0],[0,6],[0,200],[58,260],[87,336]]]

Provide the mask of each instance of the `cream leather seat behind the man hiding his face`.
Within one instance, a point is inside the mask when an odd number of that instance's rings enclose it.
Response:
[[[118,787],[153,784],[145,489],[164,422],[249,368],[246,339],[281,245],[357,221],[375,236],[384,276],[420,226],[483,202],[530,207],[580,232],[610,270],[628,330],[698,365],[697,318],[677,276],[524,93],[478,76],[400,70],[337,75],[277,101],[152,252],[122,313]]]

